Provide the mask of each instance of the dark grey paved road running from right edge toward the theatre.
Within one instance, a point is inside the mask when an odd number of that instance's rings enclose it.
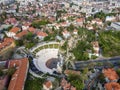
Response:
[[[81,68],[87,67],[89,64],[94,64],[94,63],[103,63],[103,64],[112,63],[112,64],[115,65],[118,62],[120,62],[120,56],[112,57],[112,58],[109,58],[109,59],[89,60],[89,61],[76,61],[74,63],[74,65],[75,65],[76,70],[79,70]]]

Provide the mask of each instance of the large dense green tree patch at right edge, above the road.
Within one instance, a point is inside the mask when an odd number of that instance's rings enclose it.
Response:
[[[103,31],[99,33],[99,43],[102,55],[113,57],[120,55],[120,31]]]

